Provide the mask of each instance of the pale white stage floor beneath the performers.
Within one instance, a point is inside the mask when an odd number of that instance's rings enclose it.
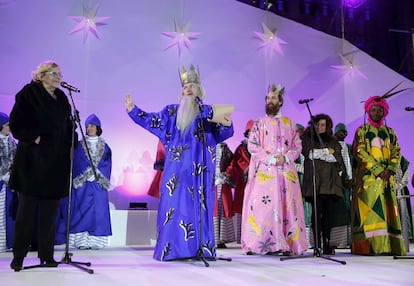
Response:
[[[414,245],[411,244],[411,248]],[[65,248],[59,246],[55,259]],[[0,253],[0,284],[5,286],[106,286],[106,285],[414,285],[413,259],[393,259],[391,256],[351,255],[349,249],[337,250],[332,258],[345,261],[342,265],[313,257],[309,250],[304,259],[280,261],[279,256],[246,256],[240,246],[219,249],[217,260],[205,267],[202,261],[159,262],[152,258],[151,246],[108,247],[102,250],[75,250],[72,261],[91,262],[93,274],[72,265],[58,268],[34,268],[14,272],[9,264],[12,253]],[[39,262],[37,253],[30,252],[24,265]]]

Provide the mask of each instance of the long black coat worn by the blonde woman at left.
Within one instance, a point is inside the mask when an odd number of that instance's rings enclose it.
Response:
[[[19,143],[9,184],[26,195],[68,195],[71,107],[63,91],[56,89],[55,95],[56,100],[41,83],[31,82],[17,93],[10,114],[10,130]],[[38,136],[40,142],[36,144]]]

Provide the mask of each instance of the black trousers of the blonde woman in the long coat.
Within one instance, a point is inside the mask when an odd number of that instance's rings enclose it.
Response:
[[[33,229],[36,227],[38,257],[43,260],[53,258],[59,202],[59,199],[45,199],[19,193],[14,226],[14,257],[26,257],[32,243]]]

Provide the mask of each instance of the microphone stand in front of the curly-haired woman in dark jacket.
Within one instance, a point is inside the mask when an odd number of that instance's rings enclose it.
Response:
[[[312,115],[312,112],[309,108],[309,101],[305,101],[304,102],[306,104],[306,108],[308,109],[310,118],[311,118],[311,143],[313,145],[314,142],[314,134],[316,133],[316,136],[318,138],[318,142],[321,146],[321,148],[324,148],[324,144],[322,141],[321,136],[319,135],[319,133],[316,131],[316,124],[314,121],[314,116]],[[311,146],[311,152],[312,152],[312,158],[315,158],[314,156],[314,148],[313,146]],[[286,257],[281,257],[280,261],[284,261],[284,260],[290,260],[290,259],[299,259],[299,258],[314,258],[314,257],[319,257],[319,258],[323,258],[323,259],[327,259],[327,260],[331,260],[334,262],[338,262],[341,263],[342,265],[346,264],[346,261],[343,260],[337,260],[334,259],[330,256],[324,256],[321,254],[321,249],[319,247],[319,227],[318,227],[318,199],[317,199],[317,192],[316,192],[316,168],[315,168],[315,159],[312,160],[312,187],[313,187],[313,224],[312,224],[312,230],[313,230],[313,237],[315,240],[315,246],[313,248],[313,256],[306,256],[306,255],[296,255],[296,256],[286,256]]]

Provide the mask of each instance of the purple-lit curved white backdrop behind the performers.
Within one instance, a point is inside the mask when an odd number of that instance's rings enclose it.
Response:
[[[99,39],[90,31],[86,40],[83,30],[70,33],[78,24],[70,16],[83,16],[84,7],[99,8]],[[174,22],[200,33],[181,47],[181,55],[177,45],[166,49],[173,39],[162,34],[174,32]],[[280,44],[283,54],[259,48],[263,42],[255,32],[264,33],[262,25],[286,42]],[[234,104],[235,135],[228,140],[233,150],[246,121],[264,114],[272,83],[286,87],[283,114],[306,125],[309,112],[298,100],[313,98],[314,115],[327,113],[334,125],[347,125],[348,143],[364,122],[361,101],[401,81],[400,88],[414,87],[345,40],[235,0],[0,0],[0,39],[0,111],[11,111],[15,94],[40,62],[56,61],[63,80],[81,90],[73,97],[82,124],[91,113],[100,118],[102,137],[113,151],[111,183],[127,200],[147,191],[157,139],[129,119],[125,94],[146,111],[176,103],[182,65],[199,67],[205,103]],[[342,64],[341,54],[353,69],[333,67]],[[414,89],[390,98],[389,105],[386,122],[396,130],[412,174],[414,113],[404,108],[414,106]]]

